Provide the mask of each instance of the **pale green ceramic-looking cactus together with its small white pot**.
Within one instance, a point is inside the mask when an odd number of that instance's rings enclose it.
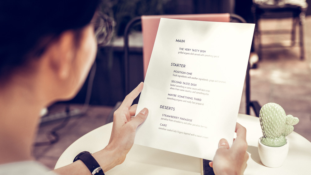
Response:
[[[262,164],[267,167],[282,166],[289,148],[285,138],[299,122],[297,117],[286,115],[284,109],[276,103],[267,103],[259,113],[262,137],[258,140],[258,153]]]

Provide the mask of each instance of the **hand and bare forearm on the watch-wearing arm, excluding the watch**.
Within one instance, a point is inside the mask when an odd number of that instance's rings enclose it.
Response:
[[[134,144],[136,128],[147,118],[147,108],[142,109],[136,117],[132,117],[135,115],[137,104],[131,105],[142,91],[142,87],[143,83],[140,83],[125,97],[121,106],[114,112],[114,123],[109,144],[103,150],[92,154],[104,173],[124,161],[126,154]],[[90,174],[90,170],[81,160],[54,171],[58,174]]]

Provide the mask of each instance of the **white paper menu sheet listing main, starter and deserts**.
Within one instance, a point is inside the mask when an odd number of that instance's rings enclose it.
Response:
[[[135,144],[212,160],[233,142],[254,24],[161,18]]]

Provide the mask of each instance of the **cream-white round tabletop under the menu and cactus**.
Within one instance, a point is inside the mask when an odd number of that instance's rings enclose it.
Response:
[[[289,140],[290,148],[285,162],[279,168],[269,168],[261,163],[258,154],[258,139],[262,136],[259,118],[239,114],[237,122],[247,129],[249,159],[245,175],[311,173],[311,142],[309,140],[292,132],[286,137]],[[76,140],[60,156],[55,169],[72,163],[75,156],[81,151],[93,153],[103,149],[109,142],[111,129],[112,123],[108,123]],[[201,162],[200,158],[134,144],[125,161],[105,174],[200,175]]]

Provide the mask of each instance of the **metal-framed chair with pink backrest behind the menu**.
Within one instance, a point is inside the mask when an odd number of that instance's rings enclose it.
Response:
[[[240,22],[246,21],[236,14],[220,13],[220,14],[191,14],[191,15],[156,15],[156,16],[138,16],[133,18],[125,28],[124,31],[124,70],[125,70],[125,88],[124,94],[127,95],[130,90],[130,75],[129,75],[129,31],[133,26],[142,25],[143,35],[143,72],[146,75],[147,67],[150,61],[153,45],[156,39],[156,33],[160,23],[160,18],[185,19],[196,21],[215,21],[215,22]],[[250,100],[250,76],[249,64],[246,72],[246,113],[250,114],[252,107],[256,116],[259,116],[261,106],[257,101]],[[142,80],[143,81],[143,80]]]

